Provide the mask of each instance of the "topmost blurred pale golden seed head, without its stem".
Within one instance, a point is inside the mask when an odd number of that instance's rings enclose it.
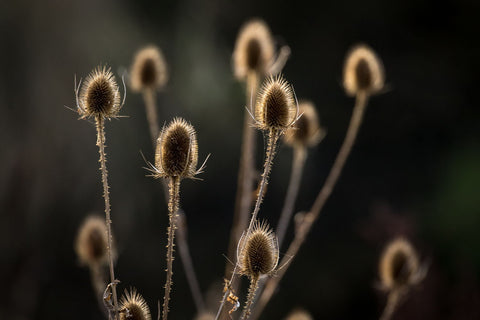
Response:
[[[275,47],[267,24],[259,19],[245,23],[233,51],[235,77],[245,79],[249,72],[266,75],[273,61]]]

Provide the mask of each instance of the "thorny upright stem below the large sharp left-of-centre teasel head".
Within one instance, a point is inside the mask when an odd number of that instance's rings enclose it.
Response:
[[[170,180],[168,181],[168,189],[170,193],[168,201],[168,217],[170,224],[167,230],[167,280],[165,281],[165,296],[163,298],[163,320],[167,320],[168,317],[168,302],[170,301],[170,291],[172,289],[173,247],[175,245],[175,221],[177,219],[178,202],[180,197],[180,177],[170,177]]]

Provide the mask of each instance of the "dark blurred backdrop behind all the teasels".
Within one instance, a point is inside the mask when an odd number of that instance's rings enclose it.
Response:
[[[378,257],[397,235],[430,267],[395,318],[478,319],[479,9],[474,0],[2,1],[0,318],[103,318],[73,250],[81,222],[104,210],[95,128],[64,106],[75,107],[74,74],[108,64],[119,76],[147,44],[163,50],[170,70],[160,122],[185,117],[198,131],[200,158],[211,153],[203,181],[182,183],[181,204],[201,289],[217,307],[245,105],[231,54],[241,25],[261,17],[276,43],[290,46],[284,75],[328,130],[309,152],[296,210],[312,205],[345,135],[354,104],[341,87],[348,49],[373,47],[388,84],[371,99],[342,176],[263,319],[296,307],[315,319],[378,318]],[[116,275],[156,317],[168,219],[161,184],[142,168],[140,151],[153,160],[144,110],[127,88],[128,118],[107,123],[107,157]],[[261,134],[258,141],[260,166]],[[274,226],[291,159],[281,146],[259,214]],[[192,319],[180,259],[174,271],[171,318]]]

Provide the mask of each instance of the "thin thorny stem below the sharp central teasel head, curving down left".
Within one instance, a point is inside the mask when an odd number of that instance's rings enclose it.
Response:
[[[263,168],[263,174],[262,174],[262,179],[260,181],[260,189],[258,191],[258,196],[257,196],[257,201],[255,202],[255,208],[252,212],[252,217],[250,219],[250,224],[247,229],[247,233],[245,235],[245,238],[248,239],[249,234],[252,232],[253,226],[255,224],[255,221],[257,219],[257,214],[258,211],[260,211],[260,204],[262,203],[263,196],[265,194],[265,187],[268,184],[268,176],[270,174],[270,170],[272,169],[272,163],[273,163],[273,158],[275,156],[275,148],[277,145],[278,138],[283,134],[283,131],[279,131],[276,129],[270,129],[268,132],[268,143],[267,143],[267,151],[266,151],[266,159],[265,159],[265,164]],[[245,246],[246,242],[243,244]],[[238,248],[238,250],[241,252],[243,251],[242,248]],[[227,301],[227,297],[230,294],[230,289],[233,281],[235,280],[235,277],[237,276],[237,269],[238,269],[238,261],[235,263],[235,268],[233,269],[232,277],[230,278],[230,281],[227,284],[227,290],[225,290],[225,293],[222,298],[222,302],[220,303],[220,307],[218,308],[217,315],[215,317],[215,320],[218,320],[223,307],[225,306],[225,302]]]

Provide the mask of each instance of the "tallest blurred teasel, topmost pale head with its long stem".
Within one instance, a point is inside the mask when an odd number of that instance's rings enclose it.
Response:
[[[245,83],[246,110],[243,123],[243,138],[238,171],[237,194],[229,242],[228,257],[235,258],[235,250],[242,232],[248,225],[252,206],[251,194],[255,189],[255,146],[254,124],[248,114],[253,109],[259,83],[269,75],[277,75],[290,56],[286,45],[275,54],[275,43],[267,24],[260,19],[247,21],[238,34],[232,55],[235,78]],[[232,265],[226,264],[225,275],[229,277]],[[236,287],[236,283],[233,284]]]

